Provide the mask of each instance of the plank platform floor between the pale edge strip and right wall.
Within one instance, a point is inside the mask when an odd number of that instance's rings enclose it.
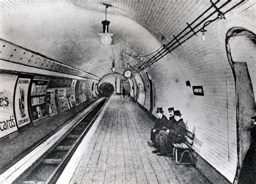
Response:
[[[153,122],[129,98],[112,96],[70,183],[210,183],[147,144]]]

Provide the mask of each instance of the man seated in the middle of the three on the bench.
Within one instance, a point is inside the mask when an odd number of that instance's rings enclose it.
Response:
[[[160,140],[159,140],[159,137],[160,136],[167,136],[168,133],[167,133],[167,130],[170,130],[173,128],[173,125],[176,123],[173,115],[174,115],[174,108],[168,108],[168,111],[169,111],[169,121],[167,122],[166,126],[164,126],[160,132],[158,133],[158,135],[156,136],[156,145],[160,145]],[[156,153],[155,151],[153,151],[153,153]]]

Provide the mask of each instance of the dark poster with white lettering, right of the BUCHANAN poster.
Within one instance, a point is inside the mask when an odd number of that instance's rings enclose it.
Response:
[[[33,80],[31,87],[30,113],[32,121],[48,115],[46,110],[46,89],[48,80]]]

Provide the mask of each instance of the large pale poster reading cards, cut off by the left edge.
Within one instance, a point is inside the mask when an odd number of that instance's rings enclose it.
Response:
[[[16,80],[15,75],[0,74],[0,138],[18,130],[12,105]]]

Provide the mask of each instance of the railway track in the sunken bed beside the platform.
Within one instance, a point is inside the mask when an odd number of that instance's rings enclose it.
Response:
[[[97,104],[13,183],[55,183],[106,102]]]

